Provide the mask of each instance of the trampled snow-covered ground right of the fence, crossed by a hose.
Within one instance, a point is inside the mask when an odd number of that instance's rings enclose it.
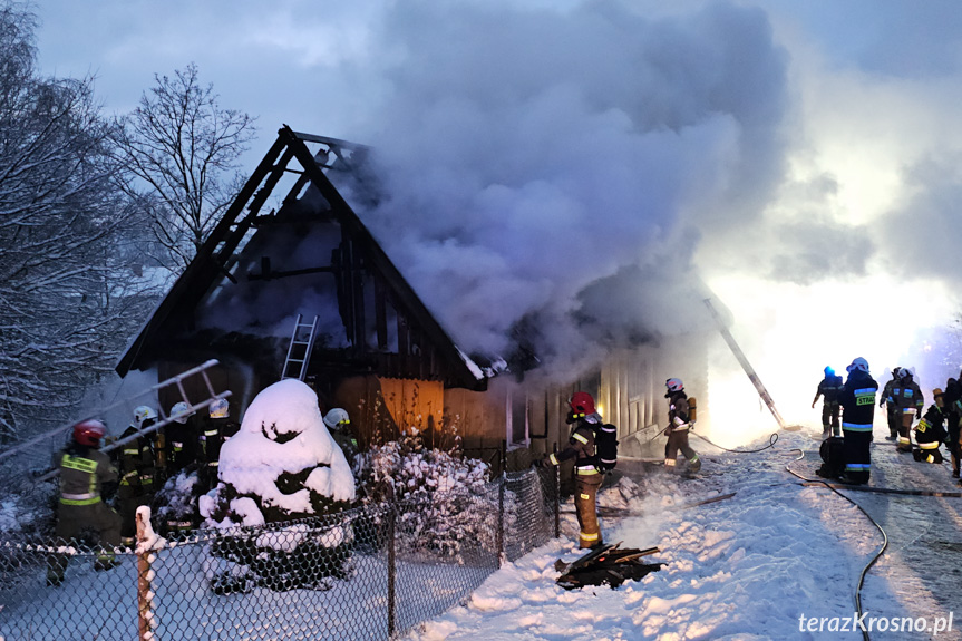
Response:
[[[854,505],[786,470],[817,478],[819,441],[813,434],[783,431],[758,454],[719,453],[693,438],[707,455],[699,477],[634,466],[626,476],[638,484],[637,497],[624,501],[631,482],[604,491],[602,505],[629,511],[602,518],[605,541],[660,548],[645,562],[664,566],[640,582],[618,590],[556,585],[555,561],[581,554],[572,543],[574,517],[567,516],[566,537],[504,566],[465,604],[406,639],[862,639],[853,622],[855,589],[883,536]],[[876,427],[872,486],[962,489],[948,464],[916,463],[883,436]],[[800,460],[798,450],[805,453]],[[731,498],[692,505],[732,492]],[[962,639],[962,498],[844,492],[890,538],[862,590],[871,639]]]

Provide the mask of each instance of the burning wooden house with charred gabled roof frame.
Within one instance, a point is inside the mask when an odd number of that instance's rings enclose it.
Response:
[[[362,447],[407,426],[446,447],[456,429],[466,453],[492,463],[506,443],[514,466],[526,465],[528,449],[563,447],[565,399],[583,389],[619,426],[624,454],[657,457],[664,379],[682,367],[707,371],[705,349],[684,350],[697,356],[683,362],[658,337],[619,339],[593,375],[563,385],[522,381],[504,361],[466,355],[356,213],[377,198],[368,154],[283,127],[117,372],[156,370],[164,380],[215,358],[212,378],[232,390],[232,416],[269,385],[300,378],[322,410],[350,412]],[[582,322],[590,331],[597,319]],[[159,400],[169,408],[177,399]]]

